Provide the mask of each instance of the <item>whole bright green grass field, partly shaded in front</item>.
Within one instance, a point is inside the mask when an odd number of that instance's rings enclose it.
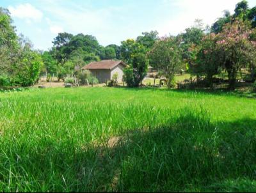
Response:
[[[256,100],[232,93],[0,93],[0,192],[256,191]]]

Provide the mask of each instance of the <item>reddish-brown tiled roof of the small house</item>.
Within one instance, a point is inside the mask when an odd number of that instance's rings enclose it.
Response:
[[[117,65],[126,66],[122,61],[115,61],[115,60],[102,60],[102,61],[93,61],[92,63],[84,66],[83,70],[112,70]]]

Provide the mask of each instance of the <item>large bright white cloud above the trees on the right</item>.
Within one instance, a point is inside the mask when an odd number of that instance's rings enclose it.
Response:
[[[175,19],[166,19],[157,26],[160,35],[171,33],[177,35],[187,27],[193,25],[195,19],[202,19],[205,24],[211,26],[218,17],[223,16],[223,11],[234,12],[239,0],[163,0],[170,9],[179,9],[180,13]]]

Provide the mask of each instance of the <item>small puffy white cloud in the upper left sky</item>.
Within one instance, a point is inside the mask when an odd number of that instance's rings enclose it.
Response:
[[[16,7],[8,6],[12,17],[17,17],[19,19],[25,19],[28,24],[31,23],[31,20],[38,22],[42,20],[43,13],[40,10],[37,10],[34,6],[29,3],[19,4]]]

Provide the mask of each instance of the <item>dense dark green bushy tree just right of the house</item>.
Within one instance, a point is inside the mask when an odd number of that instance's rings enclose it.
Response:
[[[129,87],[138,87],[147,75],[148,59],[143,53],[132,57],[132,65],[124,70],[124,81]]]

